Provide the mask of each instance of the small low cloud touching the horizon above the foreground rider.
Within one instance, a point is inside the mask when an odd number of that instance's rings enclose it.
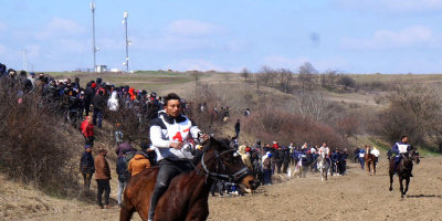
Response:
[[[220,66],[212,64],[201,59],[181,60],[176,64],[167,65],[164,70],[179,70],[179,71],[224,71]]]

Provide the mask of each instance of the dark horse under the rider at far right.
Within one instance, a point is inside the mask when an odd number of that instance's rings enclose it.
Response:
[[[411,157],[410,157],[411,155]],[[400,191],[401,191],[401,198],[407,193],[408,191],[408,186],[410,185],[410,175],[411,171],[413,170],[413,160],[415,160],[415,164],[419,165],[420,159],[419,159],[419,154],[417,152],[417,149],[412,149],[409,154],[404,154],[402,160],[399,162],[398,168],[396,171],[398,172],[399,177],[399,183],[400,183]],[[389,175],[390,175],[390,191],[393,190],[393,175],[394,175],[394,158],[390,160],[390,169],[389,169]],[[406,180],[406,190],[403,190],[403,185],[402,181]]]

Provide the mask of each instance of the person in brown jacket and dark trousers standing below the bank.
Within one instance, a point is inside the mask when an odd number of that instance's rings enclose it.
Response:
[[[112,208],[109,206],[109,194],[110,194],[109,180],[112,179],[110,168],[106,160],[107,150],[105,148],[101,148],[98,152],[99,154],[97,157],[95,157],[95,161],[94,161],[95,171],[96,171],[95,180],[97,182],[97,201],[98,201],[98,207],[101,209],[103,209],[103,208],[108,209],[108,208]],[[102,202],[103,192],[104,192],[104,203],[105,203],[104,207],[103,207],[103,202]]]

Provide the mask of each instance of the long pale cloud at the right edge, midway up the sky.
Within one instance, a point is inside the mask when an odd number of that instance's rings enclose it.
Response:
[[[344,38],[340,45],[352,50],[379,50],[428,48],[436,49],[442,43],[442,35],[438,35],[427,27],[411,27],[400,31],[379,30],[369,39]]]

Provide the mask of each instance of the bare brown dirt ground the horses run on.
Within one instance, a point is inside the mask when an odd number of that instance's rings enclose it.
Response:
[[[255,196],[210,198],[208,220],[442,220],[442,158],[422,158],[414,166],[407,198],[401,199],[398,178],[388,191],[387,160],[377,176],[349,164],[348,175],[320,181],[319,175],[260,187]],[[3,180],[1,180],[3,181]],[[112,185],[115,202],[116,186]],[[27,186],[6,182],[0,194],[2,220],[118,220],[118,208],[99,210],[95,203],[50,198]],[[135,221],[140,220],[135,213]]]

